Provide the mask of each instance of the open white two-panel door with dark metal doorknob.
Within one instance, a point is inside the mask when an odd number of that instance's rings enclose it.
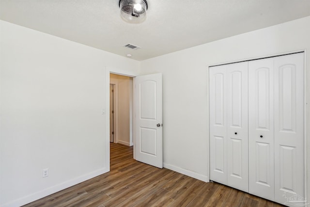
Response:
[[[135,78],[136,160],[163,167],[162,74]]]

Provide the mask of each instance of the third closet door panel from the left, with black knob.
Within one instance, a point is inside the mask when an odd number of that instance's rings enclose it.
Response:
[[[248,62],[249,193],[274,200],[273,58]]]

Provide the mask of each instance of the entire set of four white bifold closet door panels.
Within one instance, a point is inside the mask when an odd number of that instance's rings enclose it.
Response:
[[[304,205],[304,53],[209,68],[210,180]]]

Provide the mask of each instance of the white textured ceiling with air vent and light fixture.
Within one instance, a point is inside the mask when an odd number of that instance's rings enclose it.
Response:
[[[129,24],[118,2],[0,0],[0,19],[141,61],[310,16],[310,0],[148,0],[146,20]]]

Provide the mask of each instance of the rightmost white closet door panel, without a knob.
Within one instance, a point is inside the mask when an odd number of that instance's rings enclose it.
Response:
[[[304,53],[276,57],[275,201],[304,193]]]

